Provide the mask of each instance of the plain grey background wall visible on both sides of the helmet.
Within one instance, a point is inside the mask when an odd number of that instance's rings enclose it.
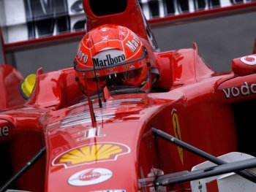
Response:
[[[252,53],[256,37],[256,12],[197,21],[176,26],[154,27],[160,50],[192,47],[197,42],[200,55],[217,71],[229,71],[231,61]],[[25,77],[39,67],[44,72],[72,67],[78,41],[18,51],[11,62]],[[0,56],[1,57],[1,56]],[[0,58],[1,59],[1,58]]]

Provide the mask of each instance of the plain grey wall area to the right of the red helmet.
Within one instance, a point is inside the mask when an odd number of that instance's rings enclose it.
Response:
[[[252,54],[256,38],[256,12],[155,28],[162,50],[192,47],[217,71],[231,70],[231,61]]]

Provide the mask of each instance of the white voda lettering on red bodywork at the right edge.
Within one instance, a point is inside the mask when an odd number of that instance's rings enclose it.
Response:
[[[251,85],[248,85],[247,82],[244,82],[244,85],[241,85],[241,87],[232,87],[232,88],[223,88],[223,93],[225,94],[225,97],[227,99],[230,99],[231,96],[237,97],[237,96],[246,96],[250,94],[256,93],[256,83],[252,83]]]

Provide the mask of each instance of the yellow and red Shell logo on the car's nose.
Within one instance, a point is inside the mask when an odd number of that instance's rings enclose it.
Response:
[[[61,153],[53,160],[53,166],[63,165],[65,168],[68,168],[81,164],[92,164],[94,162],[116,161],[119,155],[129,152],[129,147],[121,143],[92,143]]]

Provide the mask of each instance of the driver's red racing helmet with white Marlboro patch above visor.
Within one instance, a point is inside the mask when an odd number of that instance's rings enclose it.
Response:
[[[83,93],[94,95],[108,86],[151,90],[146,47],[126,27],[104,25],[89,31],[80,41],[74,61],[75,78]]]

